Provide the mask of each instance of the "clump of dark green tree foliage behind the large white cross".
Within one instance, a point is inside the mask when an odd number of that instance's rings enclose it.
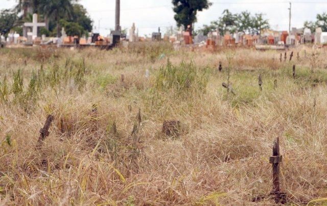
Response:
[[[13,11],[16,15],[15,22],[30,22],[29,12],[38,13],[39,17],[46,22],[46,29],[41,28],[41,34],[60,36],[60,27],[67,27],[72,35],[84,35],[92,30],[92,20],[86,9],[78,4],[79,0],[16,0],[17,5]],[[22,15],[17,16],[21,11]],[[3,15],[10,17],[8,11]],[[4,18],[3,18],[4,19]],[[2,19],[0,19],[2,21]],[[11,21],[8,21],[9,23]],[[0,22],[5,24],[5,22]],[[14,24],[9,24],[9,30],[15,30]],[[5,28],[5,27],[1,27]],[[3,30],[3,29],[2,29]]]

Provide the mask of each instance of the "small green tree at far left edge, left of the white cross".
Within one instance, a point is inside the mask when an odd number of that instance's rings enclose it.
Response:
[[[0,33],[7,34],[15,26],[17,15],[14,10],[5,9],[0,12]]]

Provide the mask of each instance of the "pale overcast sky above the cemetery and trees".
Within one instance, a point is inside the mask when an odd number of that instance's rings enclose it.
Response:
[[[276,30],[288,30],[289,2],[286,0],[210,0],[213,5],[199,12],[196,28],[209,24],[221,16],[225,9],[232,13],[248,10],[252,14],[262,12]],[[12,8],[16,0],[0,0],[0,9]],[[80,0],[92,20],[96,31],[104,35],[114,28],[115,0]],[[315,20],[317,13],[327,12],[327,0],[292,0],[292,27],[302,27],[305,20]],[[140,35],[162,31],[175,26],[171,0],[121,0],[121,25],[130,28],[135,22]]]

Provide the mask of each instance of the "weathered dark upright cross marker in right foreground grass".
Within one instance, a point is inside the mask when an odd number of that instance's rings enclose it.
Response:
[[[272,164],[272,195],[276,203],[285,202],[285,194],[281,193],[279,185],[279,163],[282,162],[282,155],[279,154],[279,137],[275,140],[272,148],[272,156],[269,158],[269,163]]]

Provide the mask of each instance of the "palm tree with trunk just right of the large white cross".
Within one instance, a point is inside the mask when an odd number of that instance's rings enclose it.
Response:
[[[57,37],[60,37],[60,18],[64,15],[72,16],[73,3],[78,0],[40,0],[39,8],[46,18],[54,17],[57,22]]]

